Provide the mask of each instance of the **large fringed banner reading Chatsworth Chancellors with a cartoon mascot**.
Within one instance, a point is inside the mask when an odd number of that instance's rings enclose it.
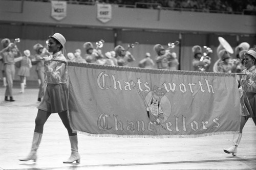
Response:
[[[69,117],[88,135],[200,137],[239,130],[234,74],[68,63]]]

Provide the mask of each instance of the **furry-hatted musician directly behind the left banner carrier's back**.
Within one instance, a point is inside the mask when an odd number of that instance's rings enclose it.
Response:
[[[34,58],[31,58],[32,65],[35,66],[35,71],[38,77],[39,91],[37,101],[41,102],[42,96],[44,96],[44,82],[45,82],[45,69],[44,69],[44,61],[41,60],[41,57],[47,56],[50,53],[47,49],[41,44],[37,43],[33,46],[36,54]]]

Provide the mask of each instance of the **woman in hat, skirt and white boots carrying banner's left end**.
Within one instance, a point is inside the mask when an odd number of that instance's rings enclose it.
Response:
[[[77,163],[80,162],[77,133],[72,131],[68,118],[67,59],[61,52],[62,48],[65,50],[65,42],[65,37],[59,33],[50,36],[48,47],[49,52],[51,52],[52,55],[42,58],[42,60],[45,60],[44,67],[47,80],[46,92],[38,106],[31,151],[27,157],[19,159],[20,161],[36,161],[36,152],[41,142],[44,125],[52,113],[58,113],[63,125],[68,130],[72,151],[71,156],[68,160],[63,161],[63,163],[73,163],[74,161]]]

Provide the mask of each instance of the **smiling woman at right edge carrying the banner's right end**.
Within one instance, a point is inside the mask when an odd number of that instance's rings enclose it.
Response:
[[[249,117],[256,126],[256,52],[254,50],[249,50],[245,53],[244,66],[246,69],[242,71],[243,75],[240,81],[241,86],[239,87],[239,92],[241,96],[241,106],[242,106],[242,117],[240,122],[240,131],[234,134],[232,146],[229,149],[224,149],[227,154],[232,154],[236,156],[237,147],[242,138],[243,128]]]

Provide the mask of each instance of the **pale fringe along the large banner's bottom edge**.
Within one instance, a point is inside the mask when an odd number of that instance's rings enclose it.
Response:
[[[197,138],[214,135],[236,134],[239,131],[211,132],[194,135],[117,135],[117,134],[91,134],[88,132],[76,131],[78,134],[87,135],[90,137],[122,137],[122,138]]]

